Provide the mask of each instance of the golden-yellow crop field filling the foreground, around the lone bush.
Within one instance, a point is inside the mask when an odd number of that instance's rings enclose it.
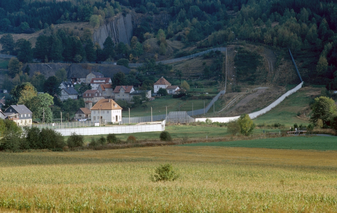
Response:
[[[152,182],[165,163],[179,178]],[[0,211],[336,212],[336,168],[336,151],[314,150],[162,146],[0,153]]]

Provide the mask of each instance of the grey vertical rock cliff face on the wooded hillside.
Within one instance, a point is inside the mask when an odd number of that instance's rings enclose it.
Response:
[[[124,42],[130,45],[130,39],[133,34],[131,15],[125,17],[122,14],[116,16],[111,22],[102,25],[94,33],[94,42],[98,43],[103,48],[105,39],[110,36],[112,41],[117,44]]]

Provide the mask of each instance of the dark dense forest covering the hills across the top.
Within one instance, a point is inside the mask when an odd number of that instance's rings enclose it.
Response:
[[[106,18],[131,10],[146,14],[134,29],[131,47],[113,44],[110,39],[100,49],[93,44],[90,30],[81,35],[52,25],[65,22],[89,21],[100,24]],[[154,25],[158,14],[167,14],[170,21]],[[96,19],[98,17],[98,19]],[[223,46],[238,39],[259,43],[295,55],[310,53],[304,68],[306,82],[325,84],[337,89],[337,3],[325,0],[78,0],[0,2],[0,31],[31,33],[47,29],[38,37],[35,49],[29,42],[0,41],[10,44],[2,52],[29,56],[20,59],[39,61],[103,61],[125,58],[135,61],[148,49],[147,39],[156,37],[161,54],[165,54],[166,39],[182,41],[200,48]],[[96,20],[96,21],[95,21]],[[98,20],[98,21],[97,21]],[[4,37],[4,36],[3,36]],[[7,36],[10,40],[10,36]],[[2,39],[4,40],[4,39]],[[28,54],[26,54],[28,53]],[[130,57],[132,54],[132,57]],[[186,53],[188,54],[188,53]],[[182,55],[180,55],[182,56]]]

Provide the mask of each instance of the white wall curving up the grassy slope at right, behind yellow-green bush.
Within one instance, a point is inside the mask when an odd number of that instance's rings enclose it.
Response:
[[[251,119],[256,118],[259,115],[265,114],[266,112],[270,111],[272,108],[276,107],[279,103],[281,103],[286,97],[290,96],[291,94],[293,94],[294,92],[296,92],[297,90],[299,90],[303,85],[303,81],[297,85],[294,89],[290,89],[289,91],[287,91],[285,94],[283,94],[280,98],[278,98],[276,101],[274,101],[273,103],[271,103],[269,106],[267,106],[264,109],[261,109],[257,112],[252,112],[249,115],[249,117]],[[210,117],[209,119],[212,120],[212,122],[229,122],[235,119],[238,119],[240,116],[235,116],[235,117]],[[207,118],[195,118],[195,122],[198,121],[206,121]]]

